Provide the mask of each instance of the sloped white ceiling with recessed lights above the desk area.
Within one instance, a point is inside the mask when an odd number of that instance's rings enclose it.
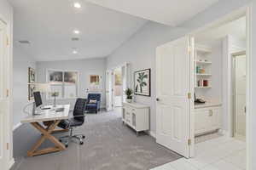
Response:
[[[9,1],[15,8],[15,45],[38,61],[105,57],[147,22],[92,3],[73,8],[73,0]],[[74,29],[81,31],[79,36]],[[80,41],[73,42],[72,37]]]

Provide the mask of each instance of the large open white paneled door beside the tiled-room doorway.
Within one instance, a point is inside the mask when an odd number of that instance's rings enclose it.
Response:
[[[183,37],[156,49],[156,142],[185,157],[189,157],[189,93],[193,92],[190,42]]]

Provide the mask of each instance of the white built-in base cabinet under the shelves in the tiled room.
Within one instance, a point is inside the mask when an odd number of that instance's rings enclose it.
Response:
[[[195,109],[195,136],[221,128],[221,107]]]

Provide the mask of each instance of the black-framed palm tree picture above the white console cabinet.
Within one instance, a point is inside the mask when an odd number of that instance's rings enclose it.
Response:
[[[136,71],[134,73],[134,94],[150,96],[151,95],[151,72],[150,69]]]

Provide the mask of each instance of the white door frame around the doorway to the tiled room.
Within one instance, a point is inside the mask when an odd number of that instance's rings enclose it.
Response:
[[[239,8],[238,10],[234,10],[230,14],[224,15],[224,17],[220,17],[218,20],[212,21],[210,24],[207,24],[205,26],[201,26],[200,28],[196,29],[195,31],[191,31],[189,33],[190,37],[195,37],[196,34],[200,33],[201,31],[208,30],[212,28],[213,26],[220,26],[221,24],[224,24],[232,17],[236,17],[238,14],[243,13],[246,16],[247,20],[247,137],[246,137],[246,148],[247,148],[247,170],[253,170],[253,123],[250,121],[253,119],[253,111],[252,111],[252,76],[253,76],[253,64],[252,64],[252,52],[253,52],[253,44],[252,44],[252,32],[253,32],[253,3],[248,3],[244,7]],[[191,116],[192,117],[192,116]],[[195,128],[194,120],[190,119],[190,132],[193,131]],[[194,131],[190,134],[192,139],[191,144],[191,152],[190,156],[194,156],[194,150],[195,150],[195,137],[194,137]]]

